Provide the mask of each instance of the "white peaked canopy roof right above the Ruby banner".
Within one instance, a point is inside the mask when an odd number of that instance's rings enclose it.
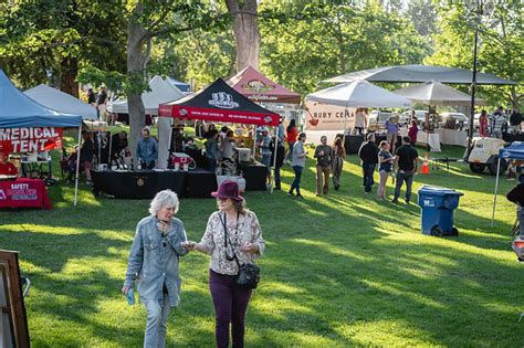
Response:
[[[367,81],[354,81],[306,95],[307,101],[343,107],[409,107],[407,98],[375,86]]]

